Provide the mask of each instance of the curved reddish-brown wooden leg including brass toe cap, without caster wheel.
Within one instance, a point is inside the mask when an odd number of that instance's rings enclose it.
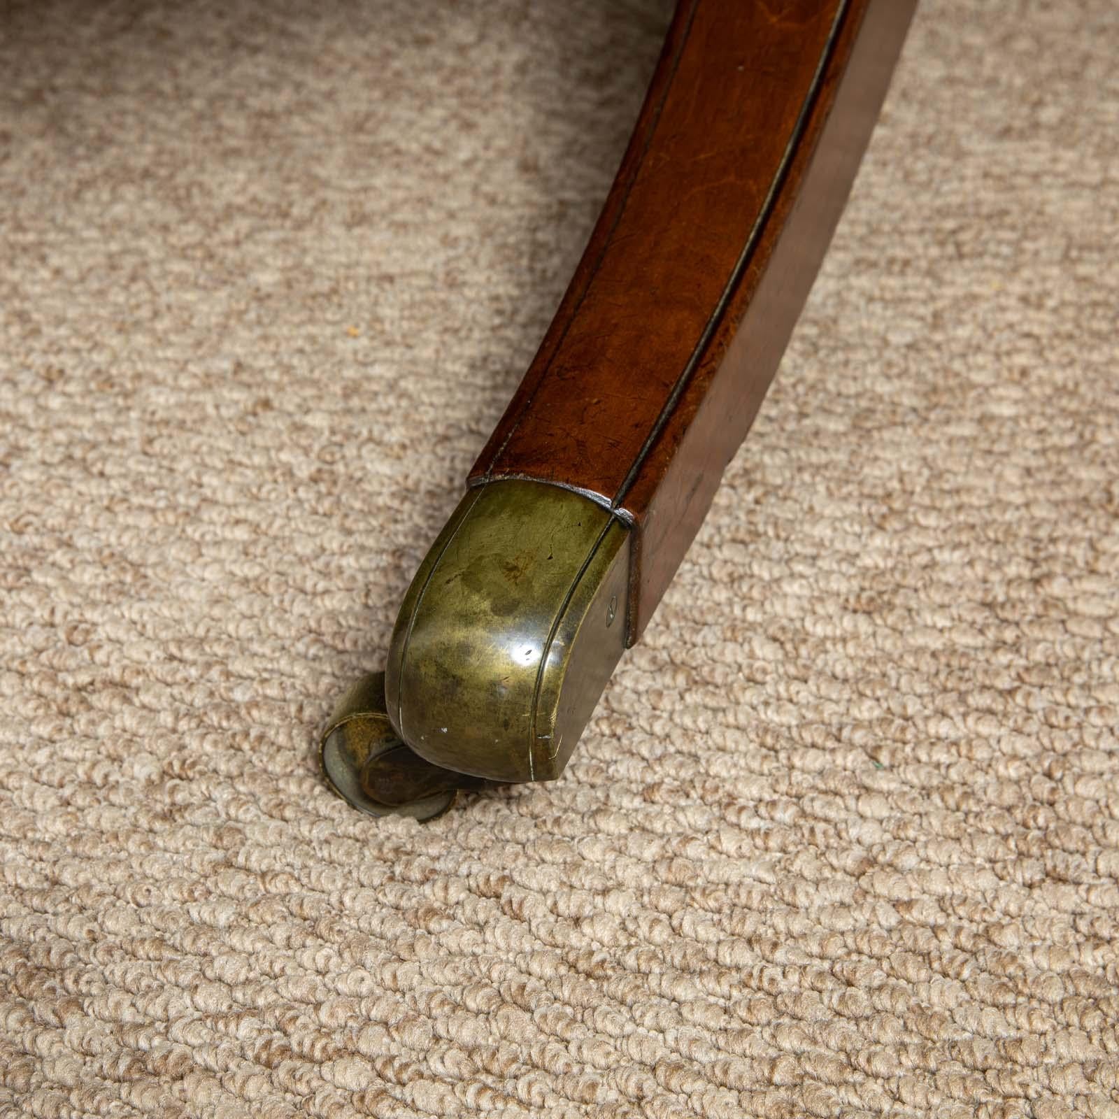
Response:
[[[424,788],[562,772],[761,405],[914,7],[679,3],[582,262],[401,609],[378,717]]]

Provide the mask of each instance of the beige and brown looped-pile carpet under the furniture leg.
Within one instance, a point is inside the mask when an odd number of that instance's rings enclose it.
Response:
[[[0,1115],[1119,1115],[1113,0],[927,0],[567,773],[426,828],[316,732],[665,3],[0,10]]]

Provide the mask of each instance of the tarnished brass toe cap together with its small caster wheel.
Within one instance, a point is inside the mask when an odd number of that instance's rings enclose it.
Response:
[[[331,720],[336,791],[426,819],[454,788],[558,777],[626,648],[629,560],[629,526],[581,493],[469,490],[404,598],[383,696],[368,677]]]

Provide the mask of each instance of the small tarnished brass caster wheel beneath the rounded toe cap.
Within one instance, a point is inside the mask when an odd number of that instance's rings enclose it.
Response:
[[[339,700],[319,752],[331,790],[369,816],[433,820],[459,789],[488,782],[442,769],[413,753],[398,737],[385,708],[385,674],[363,676]]]

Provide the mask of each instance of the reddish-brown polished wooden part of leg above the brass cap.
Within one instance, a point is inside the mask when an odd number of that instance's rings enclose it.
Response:
[[[777,370],[915,0],[683,0],[555,320],[470,481],[634,527],[630,641]]]

